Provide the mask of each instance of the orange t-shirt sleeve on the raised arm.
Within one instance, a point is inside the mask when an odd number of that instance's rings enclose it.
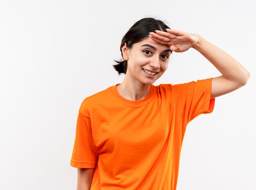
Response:
[[[177,106],[182,116],[183,126],[200,114],[212,113],[215,98],[211,98],[212,78],[173,85]]]

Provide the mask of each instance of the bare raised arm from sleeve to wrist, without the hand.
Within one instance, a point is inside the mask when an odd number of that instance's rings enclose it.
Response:
[[[211,98],[237,90],[247,83],[250,73],[233,57],[200,35],[198,35],[198,42],[193,48],[198,50],[222,74],[212,80]]]

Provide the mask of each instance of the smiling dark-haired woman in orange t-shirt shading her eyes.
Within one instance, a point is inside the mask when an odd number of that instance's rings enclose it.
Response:
[[[121,42],[124,60],[114,66],[124,81],[81,104],[71,159],[77,190],[175,190],[187,124],[247,83],[249,72],[230,55],[200,35],[168,28],[153,18],[136,22]],[[171,53],[189,48],[222,76],[154,86]]]

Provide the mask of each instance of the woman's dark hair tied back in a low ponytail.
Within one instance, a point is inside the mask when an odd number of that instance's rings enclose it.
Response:
[[[165,29],[169,28],[162,20],[156,20],[155,18],[143,18],[137,21],[133,26],[128,30],[128,32],[124,35],[121,41],[121,55],[122,53],[122,46],[126,43],[127,48],[132,48],[132,45],[146,39],[148,37],[149,32],[155,32],[155,30],[159,31],[166,31]],[[171,29],[171,28],[170,28]],[[123,57],[124,58],[124,57]],[[117,70],[118,74],[126,74],[127,71],[127,61],[121,59],[117,62],[116,65],[113,65],[115,70]]]

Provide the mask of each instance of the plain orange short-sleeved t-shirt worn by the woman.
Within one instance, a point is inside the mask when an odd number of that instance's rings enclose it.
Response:
[[[211,81],[150,85],[138,101],[118,84],[85,98],[71,166],[95,168],[91,190],[175,190],[186,126],[213,111]]]

